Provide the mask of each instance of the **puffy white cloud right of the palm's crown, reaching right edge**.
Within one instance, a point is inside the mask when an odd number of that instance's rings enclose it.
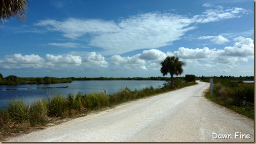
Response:
[[[185,48],[180,47],[173,54],[183,59],[200,59],[208,62],[234,64],[236,62],[247,62],[254,55],[254,44],[250,38],[237,37],[233,46],[226,46],[224,49]]]

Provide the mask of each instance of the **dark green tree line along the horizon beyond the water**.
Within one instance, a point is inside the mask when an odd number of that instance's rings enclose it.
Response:
[[[254,76],[246,76],[246,77],[231,77],[231,76],[220,76],[220,77],[196,77],[195,75],[186,75],[185,77],[176,77],[175,79],[179,81],[185,82],[194,82],[196,80],[201,80],[203,82],[209,82],[209,80],[213,78],[213,80],[218,79],[228,79],[230,81],[254,81]],[[20,78],[14,75],[10,75],[8,77],[3,77],[0,73],[0,85],[25,85],[25,84],[58,84],[58,83],[71,83],[72,81],[112,81],[112,80],[128,80],[128,81],[167,81],[170,82],[169,77],[134,77],[134,78],[113,78],[113,77],[98,77],[98,78],[53,78],[53,77],[44,77],[44,78]]]

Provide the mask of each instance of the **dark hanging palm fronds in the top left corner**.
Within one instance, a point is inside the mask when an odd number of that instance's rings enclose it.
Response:
[[[6,22],[16,16],[20,22],[25,20],[28,0],[0,0],[0,20]]]

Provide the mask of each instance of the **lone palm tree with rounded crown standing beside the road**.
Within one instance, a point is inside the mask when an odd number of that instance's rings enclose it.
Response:
[[[183,73],[182,66],[186,65],[184,61],[179,61],[178,57],[175,56],[167,56],[161,63],[161,73],[163,76],[167,75],[168,73],[171,75],[171,85],[170,87],[173,88],[173,75],[181,75]]]

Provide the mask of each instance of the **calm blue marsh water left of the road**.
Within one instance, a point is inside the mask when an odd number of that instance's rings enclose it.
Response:
[[[46,95],[60,94],[66,96],[68,93],[82,92],[83,94],[104,92],[113,94],[128,87],[131,91],[140,90],[145,87],[161,88],[165,81],[73,81],[64,84],[40,84],[40,85],[17,85],[0,86],[0,107],[4,107],[7,101],[14,98],[23,100],[26,104],[46,99]],[[38,89],[42,87],[66,87],[54,89]]]

